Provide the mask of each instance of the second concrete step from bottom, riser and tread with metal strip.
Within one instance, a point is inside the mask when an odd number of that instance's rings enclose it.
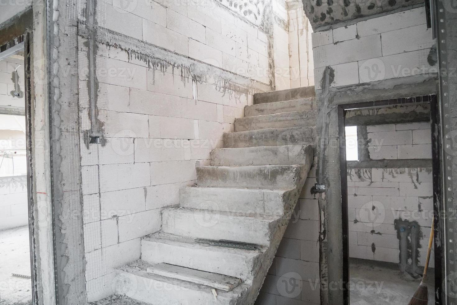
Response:
[[[263,251],[213,246],[164,232],[146,236],[141,241],[143,261],[225,274],[248,284],[263,262]]]

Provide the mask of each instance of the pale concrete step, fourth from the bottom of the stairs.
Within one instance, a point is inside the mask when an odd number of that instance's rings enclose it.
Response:
[[[290,204],[291,193],[286,189],[183,187],[180,203],[183,208],[282,216]]]

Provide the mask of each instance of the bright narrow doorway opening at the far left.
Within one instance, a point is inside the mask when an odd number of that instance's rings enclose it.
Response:
[[[33,300],[23,45],[0,56],[0,303],[5,305]]]

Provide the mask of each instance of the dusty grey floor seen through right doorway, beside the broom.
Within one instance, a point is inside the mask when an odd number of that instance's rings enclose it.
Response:
[[[408,304],[421,279],[402,275],[394,266],[384,268],[371,261],[351,261],[351,305]],[[433,269],[429,269],[429,305],[435,304],[434,277]]]

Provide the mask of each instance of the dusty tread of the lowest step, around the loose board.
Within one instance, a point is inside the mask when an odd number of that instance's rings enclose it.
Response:
[[[159,282],[180,286],[184,289],[206,291],[206,292],[211,293],[212,287],[210,287],[210,286],[203,285],[203,284],[197,284],[197,283],[185,281],[185,280],[178,279],[178,278],[170,278],[170,277],[162,276],[159,274],[149,273],[148,268],[154,268],[154,264],[150,264],[148,262],[145,262],[145,261],[139,259],[137,261],[130,262],[127,265],[119,267],[118,270],[129,273],[129,274],[133,274],[135,276],[139,276],[142,278],[153,279],[153,280],[156,280]],[[248,284],[239,284],[235,289],[228,291],[228,292],[218,289],[218,294],[225,295],[225,296],[230,296],[230,295],[237,296],[240,294],[241,291],[246,290],[249,287],[250,287],[250,285],[248,285]]]

